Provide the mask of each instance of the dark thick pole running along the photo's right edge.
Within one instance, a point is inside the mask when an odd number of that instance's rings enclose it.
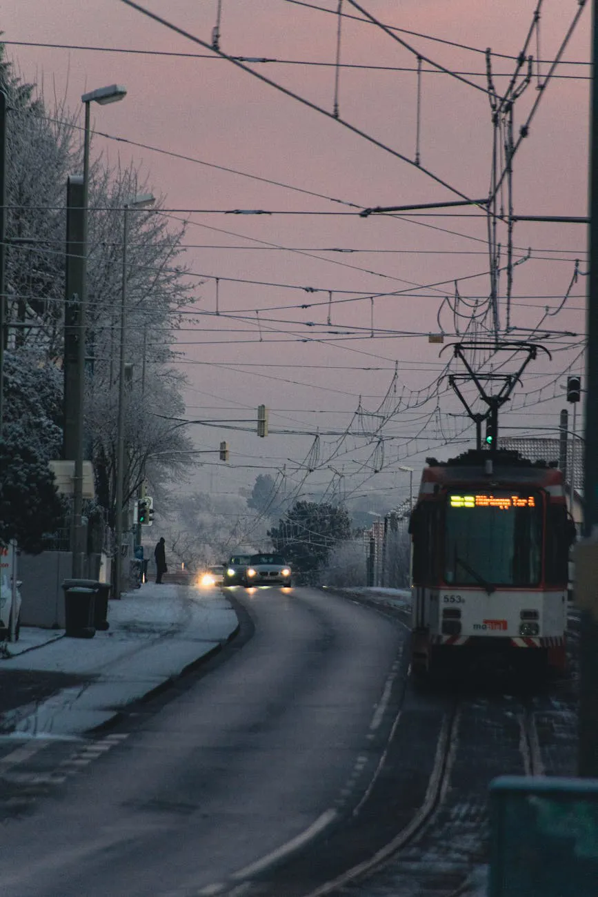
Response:
[[[590,81],[590,235],[589,286],[585,350],[584,535],[596,537],[598,526],[598,0],[592,2],[592,78]],[[579,583],[578,583],[579,585]],[[579,595],[581,610],[578,772],[598,777],[598,601]]]

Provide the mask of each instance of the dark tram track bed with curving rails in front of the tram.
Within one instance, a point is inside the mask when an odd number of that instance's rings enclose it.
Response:
[[[403,626],[408,623],[405,609],[390,604],[383,596],[345,597],[393,617]],[[402,897],[465,897],[472,893],[487,862],[490,780],[501,774],[568,774],[567,758],[574,737],[568,730],[575,712],[571,710],[575,706],[575,684],[571,677],[564,678],[550,692],[530,692],[529,686],[521,685],[512,693],[496,687],[486,693],[477,683],[473,689],[465,685],[455,690],[449,686],[447,690],[442,685],[438,692],[421,691],[413,687],[407,672],[407,684],[376,779],[359,803],[352,809],[345,807],[333,828],[305,851],[226,893],[230,897],[280,897],[281,893],[285,897],[374,897],[391,893],[401,893]],[[402,742],[404,749],[406,742],[418,742],[421,730],[412,728],[413,713],[418,708],[424,714],[433,708],[442,721],[435,735],[433,762],[427,767],[425,794],[422,791],[419,806],[412,805],[411,813],[405,814],[410,789],[406,779],[396,774],[404,751],[393,743]],[[394,768],[394,776],[384,769],[385,764],[391,771]],[[386,809],[384,799],[380,799],[385,789]],[[337,858],[337,873],[326,875],[326,869],[334,868],[326,855],[340,854],[342,840],[348,845],[357,843],[360,832],[367,832],[379,812],[394,818],[395,831],[387,829],[386,838],[371,841],[369,856],[339,872],[338,867],[351,857],[349,847],[343,863]]]

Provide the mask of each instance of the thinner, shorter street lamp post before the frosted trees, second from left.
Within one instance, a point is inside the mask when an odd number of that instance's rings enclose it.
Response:
[[[123,219],[123,278],[120,293],[120,360],[118,366],[118,421],[117,421],[117,496],[116,496],[116,554],[114,564],[114,597],[120,597],[122,578],[123,542],[123,492],[125,483],[125,349],[126,349],[126,239],[130,209],[143,209],[155,202],[151,193],[134,196],[125,203]]]

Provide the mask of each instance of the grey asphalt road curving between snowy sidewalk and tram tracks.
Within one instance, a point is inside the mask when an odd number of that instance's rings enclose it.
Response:
[[[5,897],[240,894],[338,835],[394,722],[404,627],[308,588],[234,594],[247,615],[217,660],[4,823]]]

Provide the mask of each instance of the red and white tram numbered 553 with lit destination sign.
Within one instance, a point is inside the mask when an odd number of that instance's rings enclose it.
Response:
[[[412,535],[412,670],[566,667],[575,526],[556,464],[473,449],[427,459]]]

